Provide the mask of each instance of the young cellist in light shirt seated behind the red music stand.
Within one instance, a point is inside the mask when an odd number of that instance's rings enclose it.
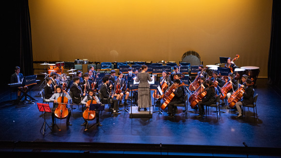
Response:
[[[65,90],[62,91],[61,86],[56,87],[56,93],[54,93],[52,95],[52,97],[50,97],[50,101],[54,102],[53,109],[52,109],[52,124],[51,124],[51,126],[55,125],[55,110],[58,108],[58,105],[59,105],[58,104],[58,98],[60,96],[62,96],[62,93],[64,93],[63,96],[65,96],[67,99],[71,99],[70,95],[68,95],[68,93]],[[68,110],[68,115],[67,115],[67,119],[66,119],[66,125],[71,126],[72,124],[69,122],[69,119],[70,119],[70,116],[71,116],[71,110],[70,109],[67,109],[67,110]]]

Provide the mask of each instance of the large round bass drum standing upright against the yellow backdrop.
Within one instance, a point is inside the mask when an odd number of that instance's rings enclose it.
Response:
[[[200,65],[200,55],[196,51],[189,50],[183,54],[181,63],[190,63],[191,66]]]

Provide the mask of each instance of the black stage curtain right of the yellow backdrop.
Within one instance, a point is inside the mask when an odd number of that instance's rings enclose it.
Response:
[[[268,55],[268,83],[281,88],[281,0],[273,0],[271,39]]]

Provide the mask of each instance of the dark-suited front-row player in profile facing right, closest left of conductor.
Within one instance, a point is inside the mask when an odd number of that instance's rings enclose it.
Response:
[[[114,98],[113,95],[110,94],[110,87],[112,88],[112,84],[110,86],[107,86],[109,84],[109,78],[103,77],[102,78],[103,84],[100,86],[100,93],[103,96],[103,99],[101,102],[103,104],[109,104],[113,102],[113,113],[112,114],[120,114],[117,112],[119,110],[118,108],[118,100]],[[110,96],[111,95],[111,96]]]

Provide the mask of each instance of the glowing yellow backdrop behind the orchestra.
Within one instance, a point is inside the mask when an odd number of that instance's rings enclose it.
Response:
[[[219,56],[267,77],[272,0],[29,0],[34,61],[181,61]]]

